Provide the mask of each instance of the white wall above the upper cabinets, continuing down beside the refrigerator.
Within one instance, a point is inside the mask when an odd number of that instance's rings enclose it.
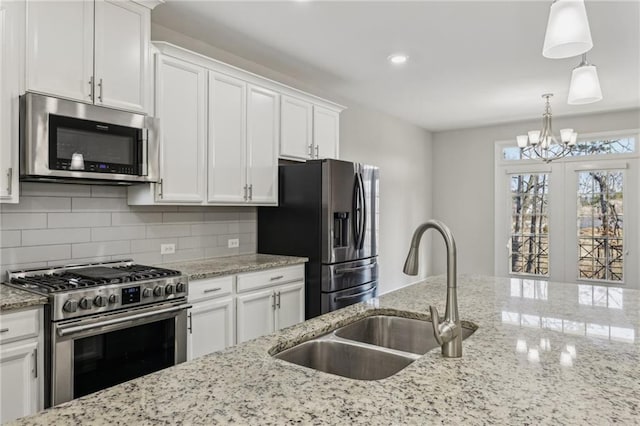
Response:
[[[380,167],[380,292],[426,277],[428,262],[418,277],[405,276],[402,266],[413,229],[432,215],[428,131],[309,86],[302,76],[282,74],[276,71],[278,58],[258,64],[155,23],[151,36],[347,106],[340,117],[341,158]],[[423,249],[427,247],[428,240]]]

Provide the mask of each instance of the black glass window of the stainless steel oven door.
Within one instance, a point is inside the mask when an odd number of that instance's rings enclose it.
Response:
[[[73,397],[175,364],[175,320],[129,327],[74,341]]]

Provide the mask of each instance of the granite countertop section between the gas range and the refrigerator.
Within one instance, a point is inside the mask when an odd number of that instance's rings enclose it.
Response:
[[[239,256],[213,257],[210,259],[189,260],[156,265],[162,268],[176,269],[189,276],[190,280],[261,271],[264,269],[298,265],[307,262],[306,257],[278,256],[273,254],[243,254]]]

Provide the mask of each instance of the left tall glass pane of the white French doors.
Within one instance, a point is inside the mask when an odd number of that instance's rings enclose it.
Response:
[[[511,176],[509,272],[549,275],[549,175]]]

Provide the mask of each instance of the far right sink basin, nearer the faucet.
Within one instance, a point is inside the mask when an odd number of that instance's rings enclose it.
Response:
[[[463,326],[462,340],[474,331]],[[338,329],[335,334],[343,339],[419,355],[440,346],[433,337],[431,322],[386,315],[363,318]]]

